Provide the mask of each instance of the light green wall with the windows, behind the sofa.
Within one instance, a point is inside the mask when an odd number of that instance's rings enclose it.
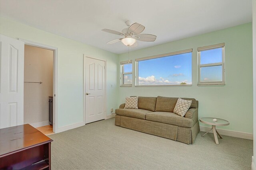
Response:
[[[156,39],[157,41],[157,39]],[[197,47],[225,43],[225,86],[197,86]],[[253,132],[252,113],[252,23],[238,25],[154,47],[130,52],[136,58],[153,56],[193,48],[192,86],[119,87],[119,104],[126,96],[169,96],[188,97],[199,101],[199,118],[218,117],[230,125],[218,127],[245,133]],[[127,61],[128,54],[119,55]],[[200,123],[200,126],[205,124]]]

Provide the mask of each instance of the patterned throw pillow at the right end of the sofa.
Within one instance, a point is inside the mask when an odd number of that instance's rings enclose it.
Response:
[[[178,101],[174,107],[173,113],[176,113],[177,115],[184,117],[191,103],[192,103],[192,100],[183,100],[181,98],[178,98]]]

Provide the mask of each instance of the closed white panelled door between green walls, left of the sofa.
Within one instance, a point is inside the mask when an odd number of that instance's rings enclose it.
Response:
[[[105,61],[84,57],[85,123],[105,119]]]

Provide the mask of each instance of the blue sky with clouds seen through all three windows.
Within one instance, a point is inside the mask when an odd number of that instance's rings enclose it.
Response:
[[[222,63],[222,48],[201,51],[200,64]],[[124,65],[124,72],[132,72],[132,64]],[[192,84],[192,53],[160,57],[138,62],[139,85]],[[201,82],[222,81],[222,66],[201,67]],[[132,76],[124,77],[131,84]]]

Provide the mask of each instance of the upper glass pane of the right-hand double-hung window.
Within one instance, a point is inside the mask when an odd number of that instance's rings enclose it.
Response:
[[[222,63],[222,47],[200,52],[200,64]]]

